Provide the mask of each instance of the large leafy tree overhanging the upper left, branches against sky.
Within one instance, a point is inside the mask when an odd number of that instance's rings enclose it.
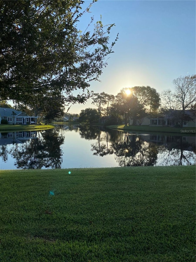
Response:
[[[95,2],[93,0],[93,2]],[[40,92],[60,91],[69,103],[84,103],[92,94],[115,41],[111,27],[93,18],[77,28],[84,1],[0,1],[0,99],[28,103]],[[91,30],[91,32],[90,32]],[[75,94],[74,90],[81,90]]]

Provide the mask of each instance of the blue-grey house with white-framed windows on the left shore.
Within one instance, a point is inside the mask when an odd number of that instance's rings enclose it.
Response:
[[[7,120],[8,124],[20,125],[20,124],[36,124],[37,116],[29,116],[25,112],[15,110],[13,108],[1,108],[0,107],[0,123],[2,119]]]

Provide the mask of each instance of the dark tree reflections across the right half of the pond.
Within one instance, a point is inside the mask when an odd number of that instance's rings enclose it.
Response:
[[[193,138],[193,137],[192,137]],[[119,166],[192,165],[195,143],[183,136],[135,135],[116,130],[100,131],[92,144],[93,155],[115,154]],[[191,137],[187,137],[191,141]],[[193,139],[192,139],[193,141]],[[193,151],[191,151],[193,149]]]

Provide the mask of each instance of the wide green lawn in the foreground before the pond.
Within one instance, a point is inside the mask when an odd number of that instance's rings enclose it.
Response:
[[[0,261],[195,261],[195,166],[0,172]]]

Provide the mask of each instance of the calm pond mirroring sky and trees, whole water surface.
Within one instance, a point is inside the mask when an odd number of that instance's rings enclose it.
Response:
[[[56,125],[0,133],[0,169],[195,165],[195,137]]]

